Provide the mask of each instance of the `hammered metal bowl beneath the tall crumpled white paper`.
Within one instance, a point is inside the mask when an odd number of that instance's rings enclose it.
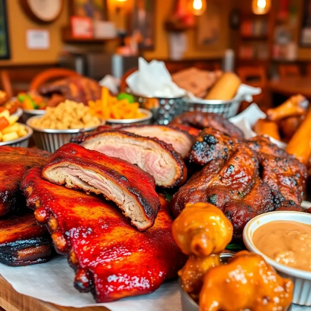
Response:
[[[168,124],[183,112],[185,97],[160,98],[142,97],[133,94],[140,107],[150,110],[157,124]]]

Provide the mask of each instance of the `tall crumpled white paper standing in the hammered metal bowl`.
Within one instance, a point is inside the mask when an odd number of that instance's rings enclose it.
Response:
[[[172,81],[164,62],[157,60],[148,63],[140,57],[138,70],[128,76],[126,83],[133,94],[144,97],[177,98],[186,95],[186,91]]]

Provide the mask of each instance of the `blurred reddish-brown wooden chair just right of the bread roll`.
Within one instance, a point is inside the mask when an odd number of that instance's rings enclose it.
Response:
[[[253,101],[263,110],[267,107],[270,107],[269,93],[267,90],[268,80],[266,69],[263,66],[239,67],[237,73],[242,83],[254,87],[260,87],[262,89],[261,94],[253,96]],[[248,106],[249,103],[243,102],[240,110],[243,111]]]

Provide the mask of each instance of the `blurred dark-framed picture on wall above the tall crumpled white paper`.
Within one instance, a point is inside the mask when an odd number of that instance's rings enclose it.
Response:
[[[129,17],[129,35],[137,39],[141,50],[154,49],[155,0],[134,0],[133,12]]]

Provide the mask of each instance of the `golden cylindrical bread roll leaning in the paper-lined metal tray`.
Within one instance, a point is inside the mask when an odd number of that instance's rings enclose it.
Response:
[[[240,78],[233,72],[225,72],[212,87],[205,99],[232,99],[241,84]]]

